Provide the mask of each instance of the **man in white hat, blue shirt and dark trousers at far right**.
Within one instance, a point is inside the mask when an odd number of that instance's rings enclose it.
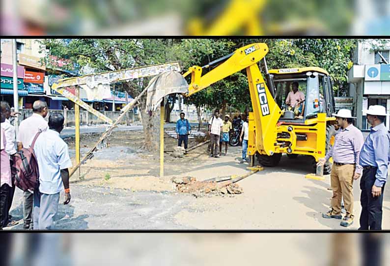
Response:
[[[389,114],[384,106],[370,106],[363,114],[371,128],[360,153],[363,174],[359,230],[382,230],[383,191],[390,163],[390,135],[383,122]]]

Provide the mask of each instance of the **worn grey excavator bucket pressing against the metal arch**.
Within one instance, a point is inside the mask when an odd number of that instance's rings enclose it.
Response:
[[[188,93],[188,83],[176,71],[161,73],[150,80],[147,86],[146,112],[155,111],[165,96],[173,93]]]

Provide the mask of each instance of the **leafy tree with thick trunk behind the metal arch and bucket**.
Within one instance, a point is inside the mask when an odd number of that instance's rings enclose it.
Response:
[[[81,68],[89,66],[96,72],[119,70],[167,62],[167,48],[170,39],[44,39],[42,50],[49,49],[49,55],[69,59]],[[150,78],[124,82],[123,88],[136,97],[148,84]],[[121,86],[120,86],[121,87]],[[146,113],[146,95],[139,102],[144,130],[143,148],[158,151],[160,112]]]

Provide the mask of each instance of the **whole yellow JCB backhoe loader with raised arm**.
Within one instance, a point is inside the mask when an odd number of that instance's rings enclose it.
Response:
[[[255,158],[263,166],[276,166],[283,153],[289,158],[310,156],[313,168],[319,158],[325,157],[334,135],[334,97],[331,78],[319,67],[267,69],[264,43],[250,44],[200,67],[192,66],[183,74],[191,74],[186,96],[212,85],[238,71],[246,69],[252,112],[249,113],[248,156],[250,165]],[[262,60],[265,79],[257,63]],[[203,75],[203,70],[215,66]],[[285,100],[291,83],[298,82],[305,94],[305,105],[300,113],[286,110]],[[324,167],[324,174],[330,165]]]

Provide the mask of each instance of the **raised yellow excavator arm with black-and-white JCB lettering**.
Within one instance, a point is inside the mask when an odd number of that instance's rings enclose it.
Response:
[[[191,74],[191,83],[189,85],[189,91],[186,94],[188,97],[219,80],[246,69],[254,115],[254,131],[252,132],[254,135],[250,135],[250,139],[252,138],[255,140],[257,151],[263,154],[273,155],[275,149],[274,143],[277,138],[276,127],[281,115],[281,110],[274,100],[273,89],[268,89],[268,86],[260,73],[259,67],[257,66],[257,62],[261,59],[264,59],[265,63],[265,55],[267,53],[268,46],[266,44],[250,44],[237,49],[234,53],[210,62],[206,66],[192,66],[183,74],[183,77]],[[208,68],[213,64],[220,63],[223,60],[225,60],[223,63],[202,75],[203,69]],[[266,74],[268,74],[267,70]],[[270,84],[270,82],[268,83]]]

